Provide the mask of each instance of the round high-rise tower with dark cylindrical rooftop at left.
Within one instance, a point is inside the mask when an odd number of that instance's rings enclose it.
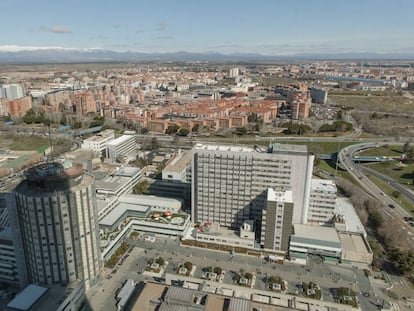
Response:
[[[93,176],[80,166],[41,164],[14,193],[29,282],[96,285],[102,261]]]

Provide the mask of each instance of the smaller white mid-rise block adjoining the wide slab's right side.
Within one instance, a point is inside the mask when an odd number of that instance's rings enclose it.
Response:
[[[336,211],[337,188],[333,180],[312,179],[308,223],[332,223]]]

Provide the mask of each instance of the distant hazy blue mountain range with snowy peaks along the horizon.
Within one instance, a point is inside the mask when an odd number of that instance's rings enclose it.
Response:
[[[43,48],[18,51],[0,50],[0,63],[80,63],[80,62],[142,62],[142,61],[212,61],[212,62],[270,62],[293,60],[413,60],[411,53],[296,53],[290,55],[262,55],[254,53],[222,54],[218,52],[145,53],[119,52],[104,49]]]

